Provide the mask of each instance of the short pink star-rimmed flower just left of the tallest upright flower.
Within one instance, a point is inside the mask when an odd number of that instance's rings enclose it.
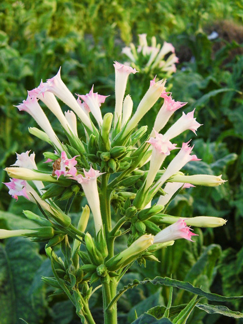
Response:
[[[78,94],[78,97],[86,103],[99,126],[102,126],[103,119],[100,107],[101,104],[104,103],[105,98],[107,98],[108,96],[103,96],[101,94],[98,94],[98,92],[94,93],[93,90],[94,85],[92,86],[92,89],[89,91],[89,93],[87,93],[86,95]]]

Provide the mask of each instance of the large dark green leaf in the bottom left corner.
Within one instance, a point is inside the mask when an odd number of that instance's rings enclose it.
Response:
[[[35,271],[42,259],[38,245],[22,237],[0,245],[0,308],[1,324],[41,323],[45,316],[44,293],[40,289],[29,295]]]

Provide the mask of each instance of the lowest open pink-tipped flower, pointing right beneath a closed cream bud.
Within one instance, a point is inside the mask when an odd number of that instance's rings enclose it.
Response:
[[[154,244],[174,241],[179,238],[185,238],[186,240],[192,241],[191,236],[197,234],[191,232],[191,229],[187,226],[185,220],[186,218],[180,218],[174,224],[156,234],[154,237]]]

